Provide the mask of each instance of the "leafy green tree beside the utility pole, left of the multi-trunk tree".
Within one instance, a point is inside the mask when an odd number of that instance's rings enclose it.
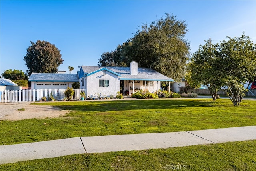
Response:
[[[218,69],[219,64],[214,54],[215,47],[209,47],[209,41],[204,46],[200,45],[188,64],[187,80],[190,85],[198,87],[200,84],[206,85],[212,100],[216,100],[217,91],[224,85],[224,80],[221,77],[221,72]]]

